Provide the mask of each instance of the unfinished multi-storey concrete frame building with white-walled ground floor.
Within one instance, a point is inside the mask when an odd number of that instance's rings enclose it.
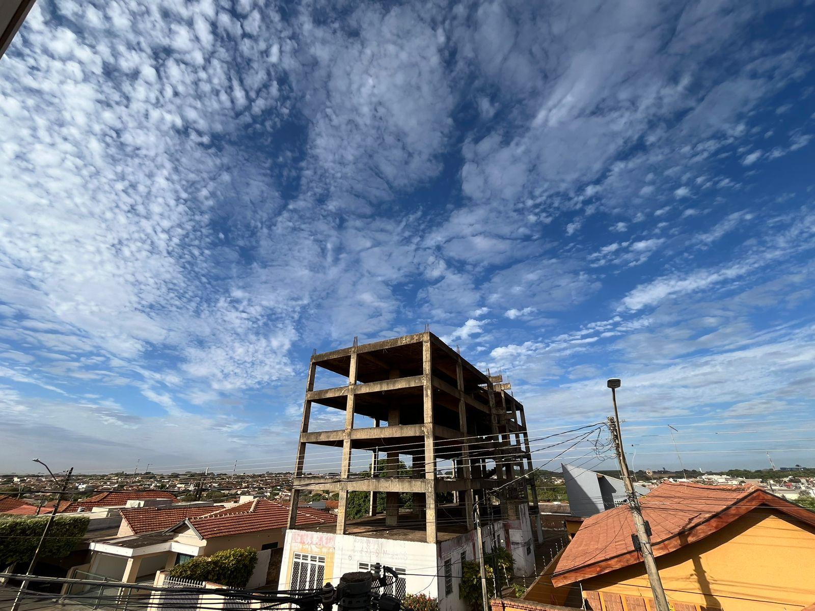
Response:
[[[326,376],[337,381],[316,388]],[[281,584],[313,585],[312,578],[381,562],[403,571],[401,594],[414,591],[407,565],[418,561],[423,570],[416,573],[425,574],[419,589],[427,587],[427,567],[436,566],[430,572],[440,576],[442,611],[460,609],[455,577],[464,560],[477,557],[474,503],[487,549],[512,550],[516,571],[531,574],[530,520],[539,537],[540,521],[537,499],[530,504],[526,479],[518,479],[531,469],[531,455],[523,406],[508,390],[500,376],[479,371],[430,332],[314,354]],[[315,404],[345,411],[345,426],[314,430]],[[341,448],[333,473],[317,473],[326,465],[310,458],[315,446]],[[325,453],[317,448],[314,455]],[[338,494],[337,525],[294,530],[301,495],[316,490]],[[365,516],[348,515],[351,492],[368,493]],[[414,551],[411,561],[405,546]]]

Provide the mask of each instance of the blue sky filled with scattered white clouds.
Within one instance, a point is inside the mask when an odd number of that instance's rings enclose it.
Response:
[[[0,59],[2,468],[290,464],[312,349],[427,323],[531,428],[623,377],[637,467],[678,464],[668,422],[688,466],[812,464],[813,33],[797,2],[39,0]]]

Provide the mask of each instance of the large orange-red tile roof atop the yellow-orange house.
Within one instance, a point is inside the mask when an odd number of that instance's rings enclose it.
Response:
[[[694,543],[758,507],[774,508],[815,525],[815,512],[757,486],[703,486],[666,482],[640,499],[651,526],[655,556]],[[598,513],[584,521],[564,552],[553,575],[555,586],[636,565],[634,522],[628,505]],[[681,535],[681,536],[680,536]]]

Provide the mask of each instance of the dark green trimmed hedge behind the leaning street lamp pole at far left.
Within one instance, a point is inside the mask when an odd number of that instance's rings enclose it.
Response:
[[[0,566],[30,562],[46,528],[48,516],[0,517]],[[88,530],[87,516],[56,516],[42,542],[41,558],[63,558],[73,552]]]

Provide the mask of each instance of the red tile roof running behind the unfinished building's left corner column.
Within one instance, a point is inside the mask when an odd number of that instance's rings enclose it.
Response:
[[[336,522],[337,516],[322,509],[297,508],[298,526]],[[289,506],[267,499],[254,499],[209,516],[191,518],[186,524],[192,525],[201,538],[227,537],[259,530],[286,528],[289,524]],[[178,526],[181,524],[176,525]]]

